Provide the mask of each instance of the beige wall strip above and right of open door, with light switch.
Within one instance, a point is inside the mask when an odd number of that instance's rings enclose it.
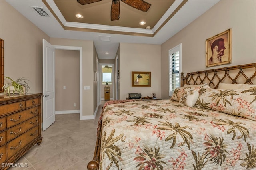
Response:
[[[92,41],[51,38],[52,45],[82,47],[82,86],[90,86],[90,90],[82,90],[83,116],[92,116],[94,113],[94,47]]]

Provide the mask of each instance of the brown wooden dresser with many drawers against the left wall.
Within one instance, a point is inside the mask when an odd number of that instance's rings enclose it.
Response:
[[[40,145],[41,93],[0,96],[0,169],[12,166],[35,144]],[[3,164],[4,163],[4,164]]]

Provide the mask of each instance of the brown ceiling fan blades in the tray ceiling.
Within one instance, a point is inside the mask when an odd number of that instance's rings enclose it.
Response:
[[[81,5],[90,4],[98,1],[102,1],[102,0],[77,0],[77,2],[79,2]],[[151,6],[151,4],[149,4],[148,2],[145,2],[144,0],[121,0],[121,1],[143,12],[147,12]],[[119,20],[120,18],[119,14],[120,14],[120,1],[112,0],[111,15],[110,15],[111,21]]]

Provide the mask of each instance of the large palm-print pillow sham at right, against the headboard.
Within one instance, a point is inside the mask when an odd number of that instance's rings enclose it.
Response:
[[[256,121],[256,86],[234,90],[202,88],[195,105]]]

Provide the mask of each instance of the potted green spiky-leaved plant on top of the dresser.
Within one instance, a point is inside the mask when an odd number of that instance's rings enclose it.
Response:
[[[4,77],[6,79],[9,79],[11,81],[11,83],[6,83],[4,84],[4,86],[2,87],[2,89],[4,90],[4,93],[10,95],[10,94],[23,94],[23,93],[28,93],[28,91],[30,90],[30,87],[28,85],[28,83],[26,82],[27,79],[24,79],[25,77],[22,78],[18,78],[16,81],[14,81],[14,79],[10,78],[10,77]]]

